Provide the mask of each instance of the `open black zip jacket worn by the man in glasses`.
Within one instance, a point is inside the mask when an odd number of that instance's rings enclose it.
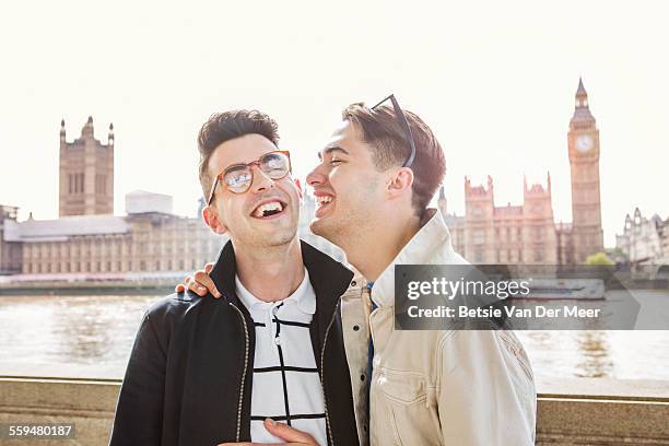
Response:
[[[302,255],[316,292],[309,330],[325,391],[328,442],[355,446],[339,310],[353,273],[304,242]],[[227,243],[211,271],[222,298],[179,293],[149,309],[121,386],[111,446],[250,441],[255,330],[235,295],[235,254]]]

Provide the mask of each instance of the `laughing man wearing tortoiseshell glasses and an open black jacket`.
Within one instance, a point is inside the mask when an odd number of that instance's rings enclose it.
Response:
[[[339,302],[360,285],[297,238],[302,191],[278,140],[259,111],[202,126],[203,218],[230,236],[211,270],[222,298],[180,293],[149,309],[110,445],[359,444]]]

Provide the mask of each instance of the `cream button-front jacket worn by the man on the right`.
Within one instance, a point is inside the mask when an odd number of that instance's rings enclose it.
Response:
[[[429,212],[434,212],[431,210]],[[347,357],[359,437],[386,445],[535,444],[537,396],[529,360],[510,331],[395,330],[396,265],[466,263],[436,212],[368,293],[342,296]],[[357,283],[355,283],[357,282]],[[363,285],[356,278],[352,285]],[[362,295],[361,295],[362,294]],[[366,423],[367,333],[374,339]]]

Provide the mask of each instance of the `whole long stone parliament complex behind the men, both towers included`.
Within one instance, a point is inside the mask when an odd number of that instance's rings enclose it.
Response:
[[[524,185],[520,206],[495,207],[494,185],[465,178],[466,212],[448,213],[444,189],[438,207],[454,248],[473,263],[583,263],[603,250],[599,187],[599,130],[579,81],[567,132],[572,183],[571,224],[556,224],[551,178]],[[0,274],[77,278],[192,271],[213,261],[226,238],[201,218],[175,215],[172,197],[137,191],[126,196],[127,215],[114,215],[114,126],[107,143],[95,138],[93,118],[79,138],[60,125],[59,219],[19,222],[17,208],[0,206]],[[202,206],[202,201],[200,202]],[[305,196],[301,237],[342,259],[342,253],[308,230],[315,202]]]

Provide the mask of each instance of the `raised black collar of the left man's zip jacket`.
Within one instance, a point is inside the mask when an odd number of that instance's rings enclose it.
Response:
[[[309,281],[316,293],[316,314],[320,334],[332,318],[339,297],[348,290],[353,272],[328,255],[301,240],[302,260],[309,273]],[[240,302],[235,293],[237,263],[232,242],[227,242],[210,272],[216,289],[228,304]]]

